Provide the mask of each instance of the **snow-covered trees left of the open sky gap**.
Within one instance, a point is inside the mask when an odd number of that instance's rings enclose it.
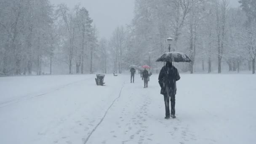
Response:
[[[92,23],[79,5],[70,9],[53,7],[48,0],[1,0],[0,73],[92,73],[98,47]]]

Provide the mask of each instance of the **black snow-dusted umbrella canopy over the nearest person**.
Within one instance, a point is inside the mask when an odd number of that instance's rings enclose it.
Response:
[[[189,57],[185,53],[176,51],[166,52],[157,61],[173,61],[173,62],[191,62]]]

